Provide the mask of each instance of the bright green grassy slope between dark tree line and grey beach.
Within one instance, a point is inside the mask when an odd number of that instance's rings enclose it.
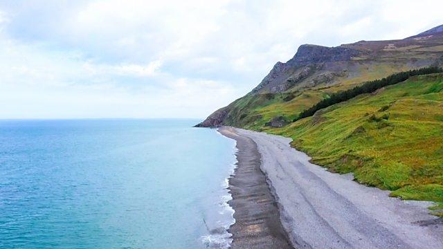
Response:
[[[266,132],[293,138],[314,163],[354,172],[392,196],[443,203],[443,74],[412,77]]]

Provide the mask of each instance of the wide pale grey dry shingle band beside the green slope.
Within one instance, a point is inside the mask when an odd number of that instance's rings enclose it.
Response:
[[[293,149],[289,145],[290,138],[233,127],[220,129],[225,136],[237,140],[237,145],[239,139],[249,139],[255,144],[258,158],[261,158],[261,163],[258,162],[262,175],[275,198],[273,212],[278,212],[278,221],[292,245],[303,248],[443,248],[443,221],[429,214],[427,207],[431,203],[392,198],[388,196],[389,191],[352,181],[352,174],[328,172],[310,163],[306,154]],[[237,148],[238,165],[247,163],[240,157],[242,147]],[[241,181],[235,185],[235,178],[234,175],[230,189],[244,187]],[[245,207],[235,205],[235,201],[241,199],[231,194],[230,205],[235,216],[241,218],[241,210]],[[233,248],[251,248],[244,244],[241,244],[244,247],[237,247],[242,236],[239,232],[244,232],[236,229],[236,226],[241,227],[241,224],[236,225],[237,217],[230,227]],[[250,239],[255,244],[260,243],[253,241],[253,237]]]

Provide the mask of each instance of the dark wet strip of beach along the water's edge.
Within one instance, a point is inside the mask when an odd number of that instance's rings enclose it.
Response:
[[[239,136],[230,127],[221,127],[219,133],[236,141],[237,167],[228,179],[235,223],[228,233],[233,241],[230,248],[292,248],[280,222],[278,203],[260,169],[261,156],[251,138]]]

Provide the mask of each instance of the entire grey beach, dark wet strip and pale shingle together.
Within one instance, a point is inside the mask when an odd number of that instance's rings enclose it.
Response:
[[[230,180],[233,248],[284,248],[285,234],[296,248],[443,248],[443,221],[429,214],[432,203],[391,198],[389,191],[352,181],[352,174],[327,172],[291,148],[290,138],[220,131],[239,149]],[[259,164],[266,180],[251,174]]]

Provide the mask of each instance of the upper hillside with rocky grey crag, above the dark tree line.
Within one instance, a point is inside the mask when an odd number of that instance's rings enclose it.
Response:
[[[197,127],[257,128],[275,117],[291,120],[335,91],[431,65],[443,65],[443,25],[399,40],[360,41],[332,48],[305,44],[286,63],[277,62],[244,98],[215,111]]]

